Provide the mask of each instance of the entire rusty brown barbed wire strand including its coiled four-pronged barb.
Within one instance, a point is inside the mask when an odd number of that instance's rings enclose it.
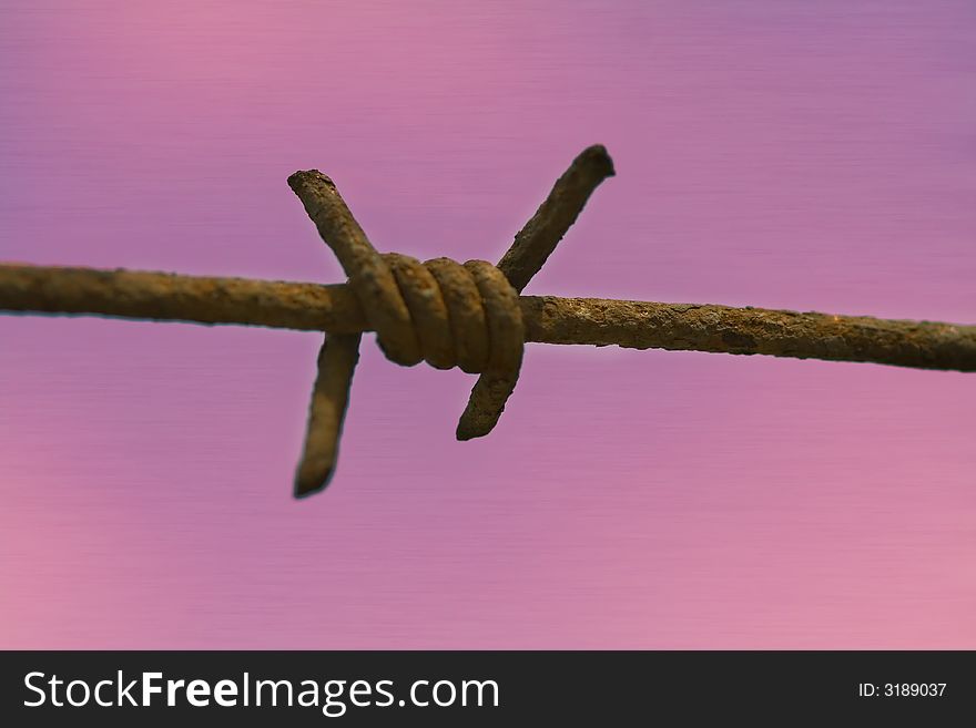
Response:
[[[95,314],[201,324],[325,331],[295,495],[323,490],[335,472],[363,331],[388,359],[458,366],[479,378],[457,438],[482,437],[511,396],[527,341],[616,345],[976,371],[976,326],[760,308],[519,294],[592,192],[614,174],[600,146],[584,150],[516,235],[497,266],[426,263],[378,253],[335,184],[316,170],[288,185],[348,276],[347,284],[179,276],[0,265],[0,310]]]

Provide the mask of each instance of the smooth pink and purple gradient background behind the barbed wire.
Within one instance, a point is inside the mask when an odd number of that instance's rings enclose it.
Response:
[[[0,259],[336,281],[497,259],[601,142],[527,293],[976,322],[972,2],[4,1]],[[976,379],[373,345],[296,502],[319,337],[0,316],[0,646],[976,648]]]

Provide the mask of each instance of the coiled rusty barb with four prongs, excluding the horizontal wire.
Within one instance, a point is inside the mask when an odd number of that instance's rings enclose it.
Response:
[[[518,381],[525,348],[519,293],[576,222],[593,189],[613,174],[602,146],[584,150],[516,235],[498,267],[448,258],[421,264],[380,255],[335,183],[317,170],[296,172],[288,185],[349,277],[369,326],[388,359],[426,360],[480,373],[457,429],[459,440],[488,434]],[[296,496],[324,489],[335,472],[338,439],[358,359],[359,337],[326,341],[318,358],[308,429],[295,479]]]

